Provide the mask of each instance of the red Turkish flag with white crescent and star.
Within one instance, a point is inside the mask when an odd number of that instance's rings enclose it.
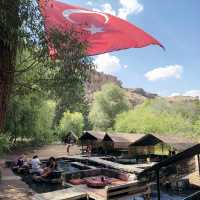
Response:
[[[41,0],[42,1],[42,0]],[[43,0],[44,1],[44,0]],[[162,44],[135,25],[107,13],[87,10],[59,1],[43,5],[47,31],[51,28],[80,32],[80,40],[87,41],[87,55],[98,55],[120,49],[140,48]]]

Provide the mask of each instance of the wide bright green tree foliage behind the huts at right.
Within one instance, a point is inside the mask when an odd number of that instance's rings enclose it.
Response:
[[[119,114],[115,130],[120,132],[175,133],[192,136],[198,132],[200,104],[196,101],[170,103],[165,99],[147,100]],[[197,120],[197,121],[196,121]],[[195,125],[193,125],[195,124]]]

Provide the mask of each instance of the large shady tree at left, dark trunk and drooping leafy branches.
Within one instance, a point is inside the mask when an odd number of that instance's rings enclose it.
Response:
[[[74,107],[71,103],[82,101],[84,81],[93,68],[85,53],[86,43],[78,41],[78,33],[73,30],[65,33],[49,30],[48,43],[57,50],[57,61],[49,59],[46,32],[37,2],[0,1],[0,130],[4,127],[13,93],[43,90],[58,105],[71,109]]]

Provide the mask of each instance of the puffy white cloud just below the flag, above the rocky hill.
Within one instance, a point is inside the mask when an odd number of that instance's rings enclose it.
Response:
[[[94,64],[97,66],[97,71],[104,72],[106,74],[115,74],[122,69],[120,59],[109,53],[97,56],[94,60]]]

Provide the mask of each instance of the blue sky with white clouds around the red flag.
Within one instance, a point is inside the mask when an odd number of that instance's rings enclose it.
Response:
[[[149,46],[94,57],[99,71],[116,75],[124,87],[140,87],[163,96],[200,96],[199,0],[62,1],[124,18],[166,48]]]

